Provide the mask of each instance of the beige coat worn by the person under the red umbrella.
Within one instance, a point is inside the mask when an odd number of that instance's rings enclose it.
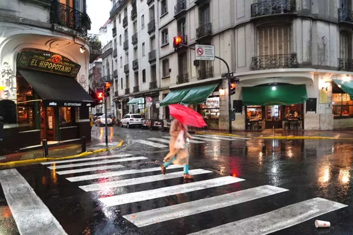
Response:
[[[174,147],[175,141],[178,138],[179,132],[184,128],[184,140],[186,137],[191,137],[189,133],[187,133],[187,126],[182,125],[177,119],[174,119],[170,124],[169,134],[169,153],[164,157],[164,162],[170,161],[175,155],[176,159],[173,161],[173,164],[177,165],[188,165],[189,164],[189,149],[185,146],[184,149],[176,149]]]

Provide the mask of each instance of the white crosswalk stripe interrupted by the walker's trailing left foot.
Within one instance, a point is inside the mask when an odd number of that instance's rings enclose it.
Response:
[[[183,166],[180,166],[180,165],[170,165],[168,166],[168,169],[177,169],[182,167]],[[167,172],[168,172],[168,169],[167,169]],[[160,171],[160,170],[161,170],[161,167],[131,169],[131,170],[125,170],[125,171],[112,171],[112,172],[104,172],[104,173],[97,173],[97,174],[90,174],[90,175],[80,175],[76,177],[68,177],[66,179],[71,182],[78,182],[83,180],[101,179],[101,178],[115,177],[120,175],[138,174],[138,173],[154,172],[154,171]]]

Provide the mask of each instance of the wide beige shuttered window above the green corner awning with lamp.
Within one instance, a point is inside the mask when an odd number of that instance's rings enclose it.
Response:
[[[289,27],[272,27],[257,30],[259,56],[289,54]]]

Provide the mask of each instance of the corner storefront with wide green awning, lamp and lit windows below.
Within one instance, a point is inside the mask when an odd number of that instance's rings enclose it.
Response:
[[[305,85],[265,84],[243,87],[245,129],[303,129]]]

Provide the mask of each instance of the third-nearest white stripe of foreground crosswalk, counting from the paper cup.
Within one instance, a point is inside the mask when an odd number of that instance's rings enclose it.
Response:
[[[173,185],[173,186],[164,187],[164,188],[156,188],[152,190],[126,193],[126,194],[116,195],[112,197],[104,197],[104,198],[99,198],[98,200],[100,200],[106,206],[115,206],[115,205],[122,205],[122,204],[127,204],[132,202],[140,202],[144,200],[170,196],[170,195],[179,194],[179,193],[187,193],[187,192],[202,190],[206,188],[213,188],[213,187],[218,187],[218,186],[227,185],[227,184],[233,184],[243,180],[244,179],[240,179],[237,177],[225,176],[225,177],[202,180],[202,181],[197,181],[197,182],[187,183],[182,185]]]

